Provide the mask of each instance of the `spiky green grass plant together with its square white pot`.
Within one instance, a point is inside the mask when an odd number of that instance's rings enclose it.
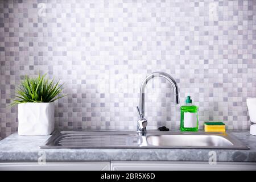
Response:
[[[26,76],[16,91],[11,106],[18,104],[19,135],[49,135],[54,130],[54,101],[65,95],[59,95],[59,81],[55,84],[45,76]]]

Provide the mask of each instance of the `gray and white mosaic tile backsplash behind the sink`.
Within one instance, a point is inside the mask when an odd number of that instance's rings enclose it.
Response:
[[[9,107],[25,75],[65,82],[55,102],[59,129],[136,129],[139,87],[155,71],[180,90],[148,82],[148,128],[178,129],[190,95],[205,121],[250,126],[256,97],[256,1],[0,1],[1,138],[18,129]]]

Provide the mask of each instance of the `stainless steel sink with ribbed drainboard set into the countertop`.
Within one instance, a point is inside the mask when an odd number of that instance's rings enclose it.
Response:
[[[228,133],[148,131],[55,131],[40,148],[225,148],[249,149]]]

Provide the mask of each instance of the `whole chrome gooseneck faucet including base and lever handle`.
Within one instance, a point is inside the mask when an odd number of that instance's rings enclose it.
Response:
[[[146,133],[146,127],[147,127],[147,119],[144,118],[144,106],[145,106],[145,88],[147,85],[147,82],[150,81],[154,77],[163,77],[168,80],[171,85],[172,89],[174,91],[174,104],[179,104],[179,91],[177,88],[176,81],[174,78],[172,78],[170,75],[164,72],[154,72],[148,75],[144,80],[142,81],[141,84],[141,90],[140,90],[140,98],[139,98],[139,108],[138,112],[140,115],[140,119],[137,121],[137,132],[138,133]]]

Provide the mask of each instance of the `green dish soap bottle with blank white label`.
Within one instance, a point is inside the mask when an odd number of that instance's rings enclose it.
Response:
[[[186,105],[180,107],[180,113],[180,131],[198,131],[197,106],[192,105],[190,96]]]

